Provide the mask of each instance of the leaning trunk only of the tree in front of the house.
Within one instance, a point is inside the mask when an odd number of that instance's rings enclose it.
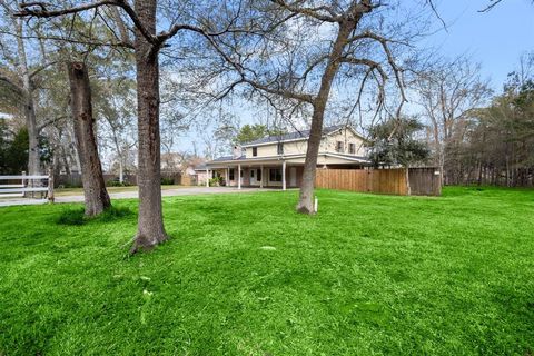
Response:
[[[339,69],[343,49],[347,43],[350,32],[356,28],[358,20],[359,18],[352,21],[347,20],[339,24],[337,38],[332,48],[328,63],[320,81],[319,93],[314,102],[308,148],[306,150],[306,160],[304,162],[303,182],[297,204],[297,211],[300,214],[316,212],[314,208],[314,186],[317,170],[317,156],[319,154],[320,138],[323,136],[323,119],[325,117],[326,103],[330,95],[332,82]]]

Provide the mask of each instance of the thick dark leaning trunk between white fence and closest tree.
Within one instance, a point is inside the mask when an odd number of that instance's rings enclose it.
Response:
[[[81,62],[68,65],[70,80],[70,107],[75,120],[75,137],[81,168],[81,181],[86,201],[86,216],[96,216],[111,206],[102,166],[98,157],[92,117],[91,87],[87,68]]]

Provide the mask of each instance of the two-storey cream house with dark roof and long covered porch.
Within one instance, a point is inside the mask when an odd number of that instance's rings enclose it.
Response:
[[[206,162],[209,178],[220,177],[224,185],[238,187],[299,187],[309,130],[265,137],[234,148],[234,155]],[[323,129],[318,168],[358,169],[369,166],[365,138],[349,126]],[[205,179],[208,185],[208,179]]]

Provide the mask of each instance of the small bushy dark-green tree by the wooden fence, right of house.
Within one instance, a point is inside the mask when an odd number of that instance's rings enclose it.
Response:
[[[370,128],[367,147],[369,147],[369,159],[375,167],[388,165],[400,165],[406,170],[406,188],[411,195],[409,167],[411,165],[425,162],[429,150],[416,135],[424,129],[424,125],[416,118],[402,117],[378,123]]]

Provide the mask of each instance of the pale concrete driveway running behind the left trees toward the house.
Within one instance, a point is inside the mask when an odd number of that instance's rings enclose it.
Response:
[[[239,194],[239,192],[256,192],[256,191],[273,191],[273,189],[259,189],[259,188],[243,188],[241,190],[234,187],[188,187],[179,189],[165,189],[161,190],[161,196],[164,197],[176,197],[176,196],[196,196],[205,194]],[[111,192],[110,198],[115,199],[137,199],[139,198],[138,191],[121,191],[121,192]],[[47,200],[37,200],[37,199],[1,199],[0,207],[9,207],[17,205],[37,205],[46,204]],[[60,196],[56,197],[56,202],[83,202],[83,195],[73,195],[73,196]]]

